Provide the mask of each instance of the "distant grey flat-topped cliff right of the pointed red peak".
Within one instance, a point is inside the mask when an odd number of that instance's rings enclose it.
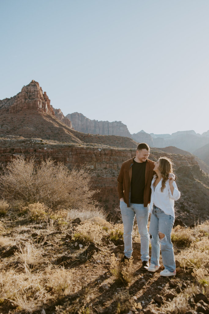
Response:
[[[98,121],[86,118],[82,113],[74,112],[66,115],[76,131],[101,135],[119,135],[131,137],[125,124],[121,121]]]

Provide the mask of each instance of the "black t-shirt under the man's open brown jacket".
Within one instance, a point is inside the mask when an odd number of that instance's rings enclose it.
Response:
[[[144,204],[145,188],[145,162],[136,162],[133,160],[131,177],[131,203]]]

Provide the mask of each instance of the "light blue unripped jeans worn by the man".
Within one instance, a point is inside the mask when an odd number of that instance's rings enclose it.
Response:
[[[149,233],[147,229],[149,207],[144,207],[144,204],[132,203],[131,207],[127,207],[125,202],[120,201],[120,210],[123,220],[124,255],[130,258],[133,252],[132,231],[136,215],[138,232],[141,236],[141,260],[142,262],[149,261]]]

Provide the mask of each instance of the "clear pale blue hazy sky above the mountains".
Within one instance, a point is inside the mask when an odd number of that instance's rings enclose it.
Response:
[[[0,99],[32,79],[64,115],[209,129],[208,0],[0,0]]]

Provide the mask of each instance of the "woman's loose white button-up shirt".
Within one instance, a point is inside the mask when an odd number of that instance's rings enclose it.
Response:
[[[152,194],[151,194],[151,201],[149,205],[149,213],[152,212],[152,207],[154,204],[158,208],[162,209],[165,214],[171,215],[175,218],[174,201],[177,201],[177,199],[180,198],[181,193],[179,192],[175,181],[173,181],[174,191],[172,195],[170,191],[169,180],[165,182],[165,188],[163,192],[161,192],[162,179],[159,181],[158,185],[155,187],[155,190],[154,190],[155,178],[156,176],[154,176],[151,183]]]

